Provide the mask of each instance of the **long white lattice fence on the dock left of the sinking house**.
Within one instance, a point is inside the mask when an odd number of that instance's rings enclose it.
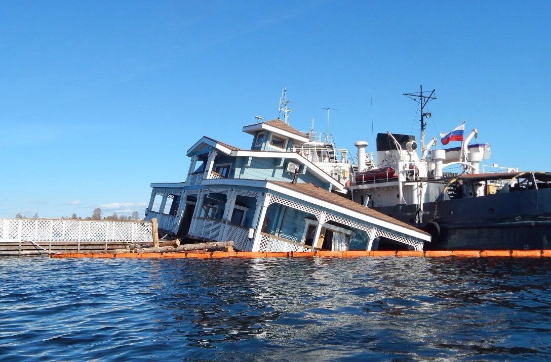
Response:
[[[0,219],[0,241],[152,242],[147,221]]]

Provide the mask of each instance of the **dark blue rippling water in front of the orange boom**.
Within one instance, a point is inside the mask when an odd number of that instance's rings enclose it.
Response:
[[[549,259],[0,258],[0,360],[548,360]]]

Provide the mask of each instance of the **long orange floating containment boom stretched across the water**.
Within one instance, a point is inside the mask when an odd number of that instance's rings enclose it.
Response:
[[[398,250],[398,251],[287,251],[283,253],[270,253],[267,251],[238,251],[227,253],[225,251],[212,251],[209,253],[113,253],[113,254],[95,254],[95,253],[67,253],[51,254],[56,258],[72,257],[94,257],[94,258],[129,258],[129,259],[171,259],[171,258],[198,258],[214,259],[223,257],[361,257],[361,256],[417,256],[417,257],[551,257],[551,250]]]

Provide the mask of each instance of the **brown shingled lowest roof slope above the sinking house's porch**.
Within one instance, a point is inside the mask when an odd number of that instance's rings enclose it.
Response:
[[[283,182],[283,181],[271,181],[271,183],[277,184],[279,186],[282,186],[284,188],[288,188],[290,190],[297,191],[299,193],[305,194],[307,196],[311,196],[312,198],[319,199],[322,201],[329,202],[334,205],[338,205],[341,207],[344,207],[345,209],[352,210],[355,212],[362,213],[363,215],[374,217],[376,219],[379,219],[381,221],[386,221],[389,223],[393,223],[397,226],[401,226],[413,231],[417,231],[419,233],[423,233],[426,235],[429,235],[428,233],[422,231],[421,229],[418,229],[414,226],[411,226],[405,222],[399,221],[393,217],[390,217],[388,215],[385,215],[379,211],[375,211],[373,209],[369,209],[368,207],[362,206],[352,200],[343,198],[343,196],[339,196],[337,194],[330,193],[329,191],[322,189],[320,187],[317,187],[314,184],[306,184],[306,183],[296,183],[292,184],[290,182]]]

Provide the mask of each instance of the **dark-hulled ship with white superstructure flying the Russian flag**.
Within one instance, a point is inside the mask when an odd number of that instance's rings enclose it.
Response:
[[[432,242],[425,249],[551,248],[551,173],[496,165],[498,172],[481,170],[490,145],[469,145],[478,131],[464,137],[464,121],[440,135],[443,145],[460,141],[460,147],[437,150],[436,138],[425,145],[425,119],[431,114],[424,108],[434,94],[422,87],[404,94],[420,104],[420,155],[415,136],[380,133],[376,162],[364,166],[367,142],[356,142],[358,167],[348,187],[352,200],[428,231]],[[460,170],[445,172],[451,166]]]

